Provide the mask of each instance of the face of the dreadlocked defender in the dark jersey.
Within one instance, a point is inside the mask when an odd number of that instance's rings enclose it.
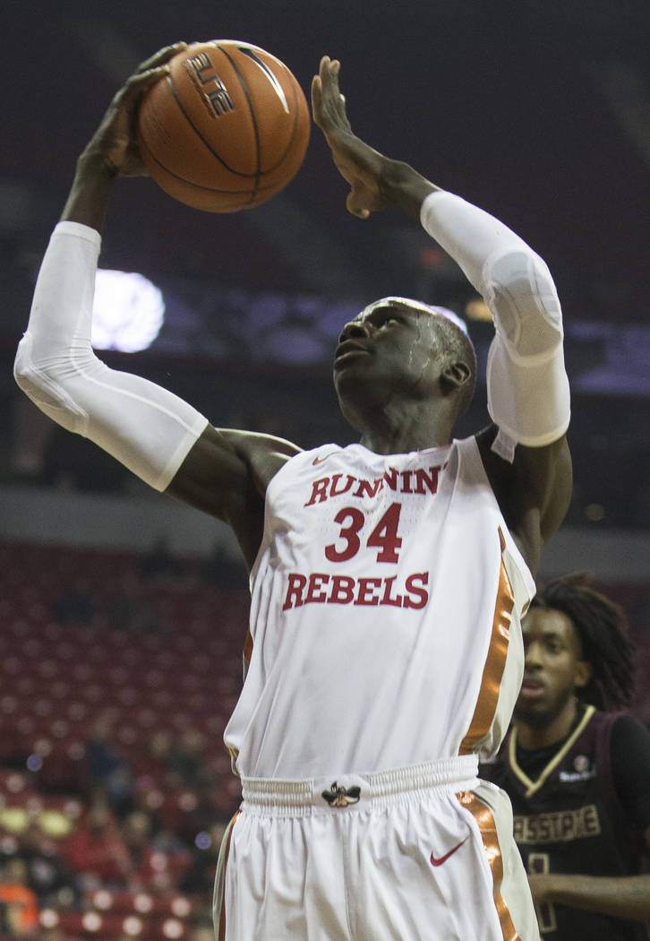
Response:
[[[584,685],[589,674],[578,632],[570,618],[552,608],[531,608],[522,622],[524,679],[515,718],[530,726],[549,725]]]

